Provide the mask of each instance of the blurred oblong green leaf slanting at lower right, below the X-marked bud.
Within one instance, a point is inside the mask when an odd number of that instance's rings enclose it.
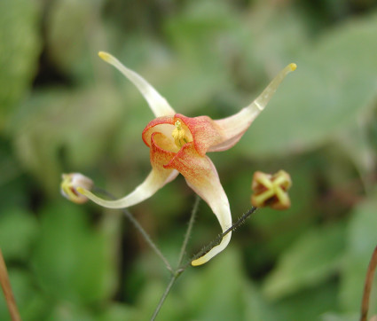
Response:
[[[279,299],[334,275],[342,264],[344,234],[340,223],[305,231],[279,258],[265,280],[264,294]]]

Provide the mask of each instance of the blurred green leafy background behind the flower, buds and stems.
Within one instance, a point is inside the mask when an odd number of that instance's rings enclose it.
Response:
[[[290,172],[292,207],[186,270],[160,319],[356,320],[377,245],[375,1],[1,0],[0,247],[24,320],[145,320],[169,280],[122,213],[59,195],[62,172],[122,196],[150,170],[153,114],[98,51],[214,119],[298,65],[240,143],[209,154],[233,219],[255,170]],[[130,208],[171,262],[194,199],[180,176]],[[219,231],[201,202],[188,254]]]

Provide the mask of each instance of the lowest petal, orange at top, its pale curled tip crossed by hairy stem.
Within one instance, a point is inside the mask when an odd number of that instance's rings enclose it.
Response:
[[[229,201],[218,178],[216,168],[207,156],[200,156],[196,152],[193,142],[184,145],[164,167],[175,168],[185,176],[185,180],[192,190],[198,193],[211,207],[223,232],[232,226]],[[232,232],[226,234],[218,246],[213,247],[199,259],[192,261],[192,265],[197,266],[208,262],[227,247],[231,237]]]

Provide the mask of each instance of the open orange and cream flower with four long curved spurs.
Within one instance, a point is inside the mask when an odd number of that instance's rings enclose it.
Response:
[[[176,114],[166,99],[139,74],[124,67],[118,59],[106,52],[100,51],[98,55],[137,86],[156,116],[146,125],[142,134],[145,145],[150,148],[152,171],[144,183],[120,200],[102,200],[87,190],[77,191],[103,207],[130,207],[148,199],[181,173],[192,190],[208,203],[222,230],[226,231],[232,226],[229,201],[216,168],[206,153],[225,151],[235,145],[255,117],[263,111],[279,83],[289,72],[295,70],[296,65],[290,64],[285,67],[262,94],[238,114],[214,121],[208,116],[191,118]],[[232,233],[226,234],[219,245],[192,261],[192,265],[208,262],[223,251],[231,235]]]

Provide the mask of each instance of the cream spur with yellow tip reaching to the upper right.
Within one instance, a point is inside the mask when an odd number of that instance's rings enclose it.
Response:
[[[264,107],[270,101],[273,94],[278,89],[279,84],[284,80],[286,75],[291,71],[294,71],[295,68],[295,64],[289,64],[287,67],[281,70],[265,88],[265,90],[263,90],[262,94],[260,94],[259,97],[256,98],[249,106],[241,109],[238,114],[234,114],[222,120],[214,121],[220,128],[220,132],[222,133],[223,137],[219,143],[211,145],[211,147],[208,148],[208,152],[225,151],[235,145],[251,123],[255,120],[256,116],[261,114]]]

